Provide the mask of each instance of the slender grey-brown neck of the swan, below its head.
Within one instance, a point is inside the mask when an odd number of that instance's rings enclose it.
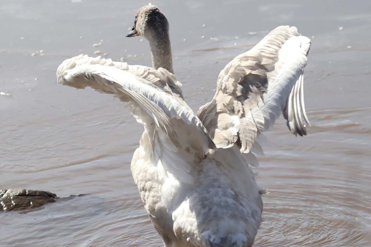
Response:
[[[174,74],[170,38],[168,36],[162,36],[149,39],[149,41],[151,46],[152,67],[154,67],[154,69],[162,67]]]

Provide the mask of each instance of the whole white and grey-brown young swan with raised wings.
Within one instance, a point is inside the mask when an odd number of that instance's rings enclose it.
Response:
[[[296,27],[277,27],[221,70],[215,96],[195,114],[173,74],[165,15],[141,7],[133,36],[149,41],[153,68],[80,55],[60,64],[58,83],[114,94],[144,126],[131,171],[165,247],[252,246],[265,193],[254,153],[281,112],[291,133],[306,135],[311,41]]]

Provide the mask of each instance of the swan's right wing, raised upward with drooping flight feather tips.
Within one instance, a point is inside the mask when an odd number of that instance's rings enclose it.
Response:
[[[303,69],[310,45],[296,27],[280,26],[224,67],[213,100],[197,113],[216,147],[260,153],[256,137],[282,111],[290,131],[306,135]]]

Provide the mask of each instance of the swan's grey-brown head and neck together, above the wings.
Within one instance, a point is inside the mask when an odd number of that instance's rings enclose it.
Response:
[[[138,9],[132,30],[126,37],[142,36],[148,40],[151,47],[152,64],[154,69],[160,67],[173,71],[171,56],[169,23],[164,13],[154,5]]]

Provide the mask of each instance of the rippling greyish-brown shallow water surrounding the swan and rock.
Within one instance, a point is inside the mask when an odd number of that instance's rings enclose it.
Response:
[[[118,100],[61,87],[55,77],[64,59],[97,50],[151,66],[147,41],[124,37],[145,4],[3,0],[0,189],[62,199],[28,213],[0,212],[0,246],[162,246],[130,172],[142,127]],[[211,99],[224,65],[269,30],[288,24],[312,37],[305,70],[312,127],[299,138],[280,119],[267,133],[255,171],[269,193],[254,246],[370,246],[371,4],[152,4],[169,19],[174,71],[194,110]]]

